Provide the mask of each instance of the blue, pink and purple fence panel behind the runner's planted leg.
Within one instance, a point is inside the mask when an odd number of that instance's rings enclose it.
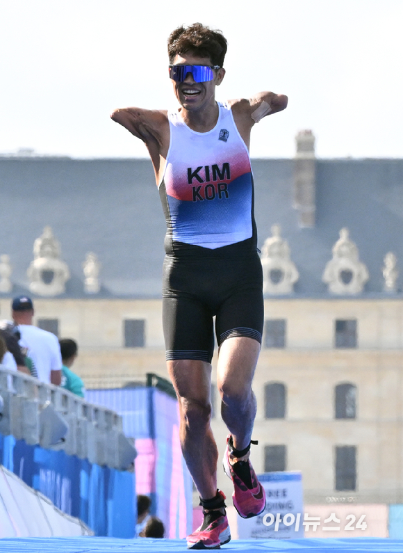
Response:
[[[190,534],[192,479],[181,453],[176,399],[155,387],[87,390],[85,399],[122,415],[124,433],[138,450],[137,492],[151,497],[151,514],[163,521],[165,537]]]

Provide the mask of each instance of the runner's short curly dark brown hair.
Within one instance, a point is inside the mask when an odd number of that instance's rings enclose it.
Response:
[[[168,56],[170,63],[175,56],[193,54],[200,58],[210,58],[213,65],[224,64],[227,54],[227,40],[222,31],[210,29],[201,23],[194,23],[188,27],[178,27],[168,38]]]

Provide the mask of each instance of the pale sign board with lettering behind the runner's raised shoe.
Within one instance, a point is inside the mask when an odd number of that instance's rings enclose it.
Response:
[[[258,480],[266,492],[265,510],[254,518],[238,517],[238,538],[303,538],[302,474],[267,472]]]

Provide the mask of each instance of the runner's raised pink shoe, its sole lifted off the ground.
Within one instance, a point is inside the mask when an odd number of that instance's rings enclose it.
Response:
[[[250,445],[249,445],[250,447]],[[248,448],[249,449],[249,448]],[[233,481],[233,506],[242,518],[252,518],[263,513],[266,506],[266,494],[263,486],[256,477],[256,472],[248,460],[238,461],[231,465],[229,456],[234,450],[232,436],[227,438],[227,448],[225,449],[224,472]],[[245,451],[245,449],[243,450]],[[243,453],[242,451],[242,453]],[[240,457],[246,455],[247,451]]]

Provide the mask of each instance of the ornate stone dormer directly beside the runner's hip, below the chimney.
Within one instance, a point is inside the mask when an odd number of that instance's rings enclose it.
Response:
[[[279,225],[272,226],[272,236],[262,248],[263,294],[292,294],[299,278],[297,267],[290,259],[288,242],[281,238]]]

